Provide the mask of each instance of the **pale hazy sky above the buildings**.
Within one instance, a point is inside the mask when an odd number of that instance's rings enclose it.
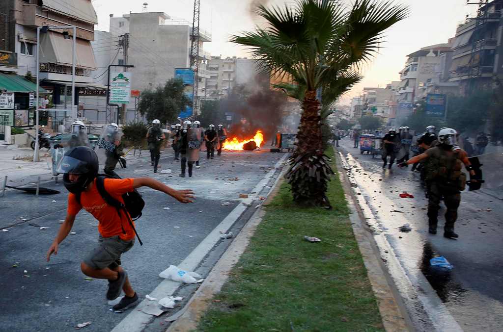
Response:
[[[342,0],[349,4],[349,0]],[[115,17],[142,12],[142,4],[148,3],[148,12],[164,12],[173,19],[192,22],[193,0],[93,0],[98,14],[96,30],[109,31],[109,15]],[[399,80],[398,72],[403,68],[406,55],[422,47],[447,43],[454,37],[457,26],[467,14],[473,15],[474,5],[466,5],[466,0],[394,0],[409,7],[408,18],[385,32],[384,42],[374,61],[365,64],[363,81],[355,86],[341,100],[348,103],[363,87],[384,87],[393,80]],[[245,49],[229,43],[229,36],[253,30],[260,24],[251,13],[252,4],[264,3],[268,6],[294,4],[284,0],[201,0],[201,29],[212,33],[212,42],[205,43],[204,49],[211,55],[248,56]]]

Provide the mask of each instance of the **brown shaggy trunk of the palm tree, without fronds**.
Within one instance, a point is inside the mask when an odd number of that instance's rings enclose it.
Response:
[[[297,149],[290,157],[286,178],[292,187],[294,201],[329,207],[326,190],[333,171],[323,153],[319,108],[316,91],[307,91],[302,102]]]

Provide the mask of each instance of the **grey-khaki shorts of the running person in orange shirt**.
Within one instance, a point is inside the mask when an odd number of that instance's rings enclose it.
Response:
[[[115,269],[121,265],[121,255],[133,247],[134,240],[125,241],[119,236],[103,238],[100,235],[98,246],[86,256],[84,263],[97,270],[106,267]]]

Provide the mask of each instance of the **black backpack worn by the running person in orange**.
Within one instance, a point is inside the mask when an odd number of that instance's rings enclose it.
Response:
[[[141,198],[140,193],[135,189],[131,192],[126,192],[125,194],[123,194],[122,199],[124,200],[124,204],[121,203],[120,201],[112,197],[112,195],[110,195],[107,192],[107,190],[105,190],[106,178],[116,179],[117,177],[112,177],[108,175],[98,175],[98,177],[96,178],[96,187],[98,189],[98,192],[103,197],[105,202],[107,202],[108,205],[113,206],[117,209],[117,213],[119,213],[119,217],[121,217],[121,219],[122,219],[121,210],[126,210],[125,214],[128,219],[129,225],[133,229],[136,237],[138,238],[140,246],[143,246],[143,242],[141,242],[141,239],[138,236],[136,229],[134,228],[133,220],[137,220],[139,217],[141,217],[141,211],[145,206],[145,201],[143,200],[143,198]],[[77,202],[80,204],[80,193],[76,194],[75,198],[77,199]],[[122,227],[122,233],[126,234],[124,227],[122,225],[121,227]]]

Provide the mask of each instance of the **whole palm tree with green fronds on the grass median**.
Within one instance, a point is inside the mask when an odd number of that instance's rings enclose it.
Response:
[[[383,32],[408,13],[389,1],[356,0],[350,10],[330,0],[299,0],[295,8],[259,6],[267,22],[231,42],[249,47],[262,69],[283,81],[275,84],[301,100],[297,148],[286,175],[294,201],[330,206],[327,184],[333,174],[322,149],[320,100],[328,107],[362,77],[359,66],[378,51]]]

